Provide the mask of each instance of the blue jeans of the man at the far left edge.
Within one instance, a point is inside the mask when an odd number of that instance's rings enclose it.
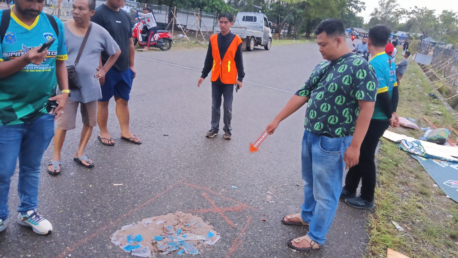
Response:
[[[16,170],[19,157],[19,182],[17,191],[21,204],[18,212],[25,213],[37,208],[38,183],[41,159],[54,136],[52,114],[25,123],[0,125],[0,219],[8,217],[8,193],[11,177]]]

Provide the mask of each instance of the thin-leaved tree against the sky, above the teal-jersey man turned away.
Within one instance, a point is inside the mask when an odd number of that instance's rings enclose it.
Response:
[[[377,18],[378,24],[383,24],[390,28],[396,27],[401,17],[398,2],[396,0],[379,0],[378,5],[379,7],[375,8],[371,13],[371,17]]]

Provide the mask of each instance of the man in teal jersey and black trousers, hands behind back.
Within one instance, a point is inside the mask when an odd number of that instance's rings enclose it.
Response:
[[[374,209],[374,190],[376,184],[375,151],[380,137],[390,124],[396,122],[398,115],[398,83],[396,82],[396,64],[385,52],[391,30],[384,25],[377,25],[369,30],[368,49],[370,63],[375,69],[379,82],[377,101],[369,129],[360,149],[360,162],[351,167],[345,178],[341,197],[350,206],[361,209]],[[393,117],[393,118],[392,118]],[[356,188],[361,180],[361,194],[356,196]]]

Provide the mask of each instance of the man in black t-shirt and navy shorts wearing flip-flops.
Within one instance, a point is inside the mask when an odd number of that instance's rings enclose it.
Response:
[[[131,143],[141,144],[142,141],[131,134],[129,130],[129,107],[132,81],[136,72],[134,69],[134,42],[132,41],[131,18],[125,11],[121,11],[122,2],[107,0],[100,5],[91,18],[91,21],[104,27],[113,37],[121,49],[121,54],[113,67],[107,71],[104,78],[100,79],[102,98],[98,100],[97,124],[100,128],[98,140],[104,145],[114,145],[113,138],[107,128],[108,104],[111,97],[116,101],[116,114],[118,116],[121,139]],[[100,68],[107,62],[109,55],[102,52]]]

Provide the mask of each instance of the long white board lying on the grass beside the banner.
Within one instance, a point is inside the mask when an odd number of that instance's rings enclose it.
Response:
[[[396,134],[393,132],[390,132],[388,130],[385,131],[383,134],[383,137],[387,138],[388,140],[392,140],[394,142],[400,141],[400,140],[408,140],[410,142],[417,140],[415,138],[406,136],[404,134]],[[425,151],[428,152],[428,154],[431,154],[433,156],[440,156],[444,157],[450,160],[458,161],[458,148],[457,147],[451,147],[451,146],[444,146],[444,145],[438,145],[432,142],[427,142],[423,140],[419,140],[421,142],[421,145],[425,148]]]

